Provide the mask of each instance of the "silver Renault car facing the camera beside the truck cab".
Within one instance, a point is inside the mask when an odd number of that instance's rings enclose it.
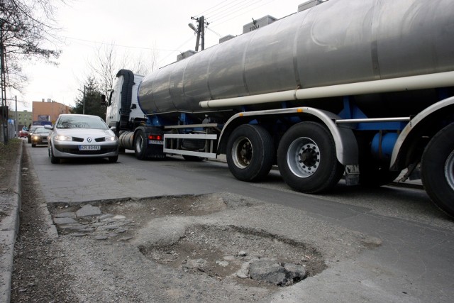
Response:
[[[61,114],[49,133],[50,162],[60,158],[109,158],[118,160],[118,138],[99,116]]]

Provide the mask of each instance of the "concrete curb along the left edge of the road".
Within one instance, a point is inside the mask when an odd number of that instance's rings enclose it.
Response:
[[[18,158],[13,163],[11,187],[0,192],[0,202],[9,209],[0,222],[0,302],[11,301],[11,277],[14,262],[14,244],[19,232],[22,196],[23,142],[19,145]]]

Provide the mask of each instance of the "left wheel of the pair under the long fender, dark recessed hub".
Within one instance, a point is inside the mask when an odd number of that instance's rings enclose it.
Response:
[[[254,182],[270,172],[275,160],[275,147],[270,133],[262,126],[238,126],[227,143],[227,164],[238,180]]]

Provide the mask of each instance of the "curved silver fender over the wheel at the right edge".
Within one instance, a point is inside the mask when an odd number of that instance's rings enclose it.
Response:
[[[450,108],[449,110],[447,110]],[[423,126],[426,123],[431,123],[431,121],[439,121],[440,115],[448,116],[454,114],[454,97],[448,99],[443,99],[438,101],[431,106],[428,106],[426,109],[421,111],[419,114],[414,116],[411,121],[404,127],[399,137],[397,138],[396,144],[392,150],[391,162],[389,164],[390,170],[399,170],[404,168],[402,161],[406,156],[406,150],[408,146],[411,145],[412,137],[411,135],[416,134],[419,129],[418,126]],[[440,126],[440,129],[443,128]],[[439,131],[439,129],[438,129]]]

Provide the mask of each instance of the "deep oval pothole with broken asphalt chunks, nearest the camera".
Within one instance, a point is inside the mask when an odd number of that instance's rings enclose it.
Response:
[[[172,245],[139,249],[185,272],[261,287],[292,285],[326,268],[321,253],[305,243],[238,226],[191,226]]]

